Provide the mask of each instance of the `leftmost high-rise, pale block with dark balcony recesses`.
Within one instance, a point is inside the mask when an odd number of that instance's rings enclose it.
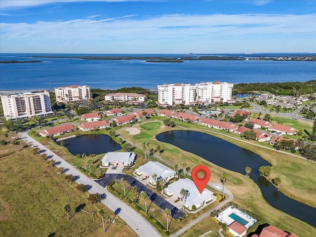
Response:
[[[48,116],[51,110],[49,92],[1,95],[4,117],[7,119]]]

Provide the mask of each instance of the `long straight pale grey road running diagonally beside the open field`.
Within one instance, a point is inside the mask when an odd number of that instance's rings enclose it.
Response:
[[[64,159],[60,158],[55,153],[41,145],[38,141],[30,137],[27,132],[20,132],[19,137],[25,143],[32,144],[32,147],[38,147],[48,157],[54,159],[56,162],[59,162],[56,166],[64,167],[65,169],[67,169],[66,173],[74,175],[78,184],[89,185],[91,187],[88,191],[89,193],[102,194],[105,198],[101,202],[108,208],[110,208],[113,212],[119,210],[118,216],[123,219],[136,232],[138,236],[160,237],[160,234],[156,231],[156,229],[151,224],[149,224],[149,222],[147,222],[140,214],[138,214],[131,207],[113,196],[111,193],[106,192],[101,185],[82,174],[79,170],[76,169],[76,167],[72,166],[70,163],[66,162]]]

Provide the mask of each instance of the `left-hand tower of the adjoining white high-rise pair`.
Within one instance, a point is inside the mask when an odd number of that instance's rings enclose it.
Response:
[[[195,102],[195,85],[184,83],[158,85],[160,106],[190,105]]]

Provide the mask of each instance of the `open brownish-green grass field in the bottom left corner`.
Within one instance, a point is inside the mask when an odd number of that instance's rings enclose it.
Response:
[[[12,148],[10,144],[5,146]],[[30,148],[1,158],[0,236],[104,236],[100,217],[75,210],[84,205],[89,213],[103,209],[110,218],[114,213],[102,203],[87,202],[88,194],[79,194],[77,184],[69,184],[63,176],[56,173],[56,168],[48,167],[40,155],[33,155]],[[69,221],[63,212],[67,203],[71,206]],[[137,236],[120,218],[118,221],[123,225],[106,224],[106,235]]]

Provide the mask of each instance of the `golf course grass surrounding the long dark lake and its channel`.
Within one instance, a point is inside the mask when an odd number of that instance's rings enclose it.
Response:
[[[153,120],[158,118],[159,117],[153,118]],[[176,124],[177,126],[173,129],[178,129],[179,126],[183,126],[191,129],[203,129],[204,132],[207,132],[206,127],[197,124],[189,124],[187,122],[179,121],[176,121]],[[182,151],[170,144],[155,140],[157,134],[168,131],[172,128],[165,127],[162,122],[158,120],[144,122],[136,126],[141,130],[140,134],[132,136],[123,129],[119,130],[118,133],[127,140],[131,140],[133,143],[140,146],[143,142],[149,142],[150,149],[156,149],[159,145],[161,149],[164,150],[161,154],[161,158],[173,164],[181,164],[185,161],[190,167],[194,167],[197,164],[207,165],[212,170],[211,182],[220,183],[220,174],[223,171],[227,172],[229,177],[226,182],[226,186],[233,192],[235,196],[234,202],[236,202],[239,206],[261,216],[267,220],[269,224],[275,225],[283,230],[287,230],[300,236],[316,236],[315,228],[270,206],[262,197],[259,187],[251,179],[246,178],[245,175],[226,170],[207,160],[199,158],[194,154]],[[223,135],[217,135],[214,133],[210,134],[245,149],[252,150],[271,162],[273,164],[271,177],[276,177],[276,175],[281,177],[281,191],[292,198],[294,197],[312,206],[316,206],[316,187],[314,185],[316,183],[316,177],[314,175],[316,171],[315,163],[308,162],[301,158],[294,158],[286,154],[281,155],[276,151],[260,148]],[[302,167],[304,172],[295,172],[293,175],[293,169],[298,167]]]

